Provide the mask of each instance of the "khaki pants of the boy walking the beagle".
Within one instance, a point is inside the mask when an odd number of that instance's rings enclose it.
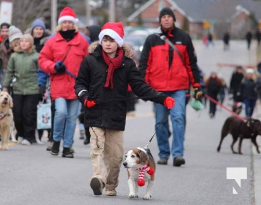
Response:
[[[123,131],[97,127],[89,129],[93,168],[91,178],[102,179],[105,188],[113,190],[118,186],[119,169],[123,161]]]

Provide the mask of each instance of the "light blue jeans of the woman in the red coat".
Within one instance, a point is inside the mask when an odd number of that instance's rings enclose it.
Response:
[[[55,114],[53,125],[53,140],[64,139],[64,148],[69,148],[73,142],[73,135],[78,114],[78,99],[55,99]]]

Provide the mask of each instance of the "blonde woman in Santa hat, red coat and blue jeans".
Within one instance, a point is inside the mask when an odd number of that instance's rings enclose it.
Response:
[[[73,158],[70,147],[79,106],[74,78],[89,47],[76,27],[77,21],[74,10],[65,7],[59,14],[56,34],[48,39],[39,54],[39,67],[50,74],[50,94],[55,103],[51,154],[58,155],[63,139],[62,156],[68,158]]]

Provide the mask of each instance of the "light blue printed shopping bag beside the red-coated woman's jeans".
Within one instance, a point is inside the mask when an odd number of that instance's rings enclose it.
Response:
[[[37,105],[37,130],[51,129],[51,104]]]

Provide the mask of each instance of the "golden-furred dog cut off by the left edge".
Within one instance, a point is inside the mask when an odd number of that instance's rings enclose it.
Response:
[[[5,91],[0,92],[0,134],[2,137],[2,149],[8,150],[8,139],[13,124],[12,97]]]

